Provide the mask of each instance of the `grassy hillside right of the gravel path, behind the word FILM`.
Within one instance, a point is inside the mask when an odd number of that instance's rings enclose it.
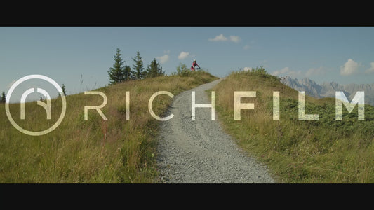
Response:
[[[298,92],[265,69],[233,72],[215,88],[216,110],[238,144],[269,165],[284,183],[374,183],[374,107],[358,108],[335,120],[335,99],[305,96],[305,113],[319,120],[298,120]],[[234,91],[256,91],[255,109],[234,120]],[[280,92],[280,120],[273,120],[273,91]]]

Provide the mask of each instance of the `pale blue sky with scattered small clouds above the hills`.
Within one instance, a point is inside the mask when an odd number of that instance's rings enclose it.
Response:
[[[156,58],[166,73],[180,62],[215,76],[264,66],[276,76],[374,83],[374,27],[0,27],[0,92],[29,74],[65,84],[67,94],[109,83],[119,48],[133,66]]]

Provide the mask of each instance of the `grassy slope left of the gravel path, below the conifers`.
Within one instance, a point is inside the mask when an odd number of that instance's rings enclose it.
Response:
[[[84,120],[84,106],[98,106],[102,97],[70,95],[61,125],[40,137],[16,130],[1,104],[0,183],[152,183],[157,177],[154,137],[159,121],[149,114],[149,98],[158,91],[175,95],[215,79],[196,71],[102,87],[95,91],[107,96],[102,109],[107,121],[94,110]],[[130,120],[126,120],[126,91]],[[171,100],[166,95],[156,97],[154,113],[162,116]],[[20,104],[11,104],[10,110],[25,129],[44,130],[60,116],[60,99],[52,104],[52,120],[46,120],[46,111],[36,102],[25,104],[25,120],[20,120]]]

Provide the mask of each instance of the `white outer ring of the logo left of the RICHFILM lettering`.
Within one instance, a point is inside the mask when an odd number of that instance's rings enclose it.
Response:
[[[11,99],[11,94],[15,90],[15,87],[20,85],[20,83],[23,83],[26,80],[30,80],[30,79],[41,79],[41,80],[46,80],[48,83],[51,83],[53,86],[55,86],[58,92],[60,92],[61,99],[62,99],[62,111],[61,111],[60,118],[58,118],[57,122],[54,125],[52,125],[50,128],[40,131],[40,132],[33,132],[33,131],[25,130],[22,127],[20,127],[17,123],[15,123],[15,121],[13,120],[11,116],[11,112],[9,111],[9,101]],[[9,121],[11,122],[13,127],[15,127],[17,130],[30,136],[41,136],[44,134],[48,134],[49,132],[52,132],[53,130],[55,130],[56,127],[58,127],[58,125],[60,125],[66,112],[66,99],[65,99],[65,95],[62,93],[62,88],[60,87],[60,85],[58,85],[58,83],[55,82],[55,80],[49,78],[48,76],[34,74],[34,75],[24,76],[20,78],[19,80],[15,81],[15,83],[9,89],[8,94],[6,94],[5,110],[6,110],[6,116],[8,116]]]

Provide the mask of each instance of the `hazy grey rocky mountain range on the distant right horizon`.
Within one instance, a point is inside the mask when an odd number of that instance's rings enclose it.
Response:
[[[335,91],[342,91],[344,92],[347,99],[349,99],[349,102],[352,101],[357,91],[363,91],[365,92],[365,104],[374,106],[374,83],[365,85],[340,85],[338,83],[331,82],[319,85],[314,82],[314,80],[310,80],[309,78],[298,80],[296,78],[290,78],[288,76],[281,77],[281,83],[287,85],[288,87],[292,87],[295,90],[305,91],[305,94],[316,98],[335,98]]]

